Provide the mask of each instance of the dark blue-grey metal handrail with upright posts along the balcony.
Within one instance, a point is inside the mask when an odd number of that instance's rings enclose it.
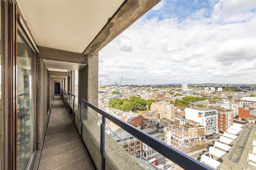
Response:
[[[141,140],[141,142],[147,144],[149,147],[151,147],[152,149],[154,149],[164,157],[167,157],[170,161],[174,162],[175,164],[178,164],[180,167],[182,167],[185,170],[213,170],[209,166],[202,164],[201,162],[198,162],[194,158],[189,157],[188,155],[172,148],[171,146],[163,143],[158,139],[155,139],[154,137],[148,135],[147,133],[136,129],[134,126],[129,125],[128,123],[116,118],[115,116],[105,112],[104,110],[101,110],[99,107],[96,107],[83,99],[80,107],[81,138],[82,138],[82,107],[85,107],[84,104],[102,115],[101,143],[100,143],[101,163],[102,163],[101,170],[105,170],[104,144],[105,144],[106,118],[112,121],[113,123],[115,123],[117,126],[121,127],[126,132],[133,135],[135,138]]]

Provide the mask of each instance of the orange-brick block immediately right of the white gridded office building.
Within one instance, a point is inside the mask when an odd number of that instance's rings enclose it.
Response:
[[[224,107],[211,107],[218,111],[218,131],[223,133],[227,132],[230,126],[233,126],[234,111],[225,109]]]

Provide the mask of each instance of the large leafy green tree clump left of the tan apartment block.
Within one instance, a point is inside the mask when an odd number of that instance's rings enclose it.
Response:
[[[155,102],[154,99],[148,99],[148,101],[146,101],[145,99],[141,99],[140,97],[132,96],[129,99],[115,99],[114,101],[110,101],[109,107],[119,109],[124,112],[135,112],[137,110],[147,110],[147,106],[148,108],[150,108],[153,102]]]

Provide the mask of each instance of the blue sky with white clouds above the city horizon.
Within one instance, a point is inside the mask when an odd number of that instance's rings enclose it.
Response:
[[[162,0],[99,52],[99,83],[256,83],[255,0]]]

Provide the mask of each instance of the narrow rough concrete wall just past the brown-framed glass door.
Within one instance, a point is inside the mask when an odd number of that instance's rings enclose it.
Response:
[[[42,59],[38,59],[38,150],[41,150],[44,132],[47,126],[47,68]]]

